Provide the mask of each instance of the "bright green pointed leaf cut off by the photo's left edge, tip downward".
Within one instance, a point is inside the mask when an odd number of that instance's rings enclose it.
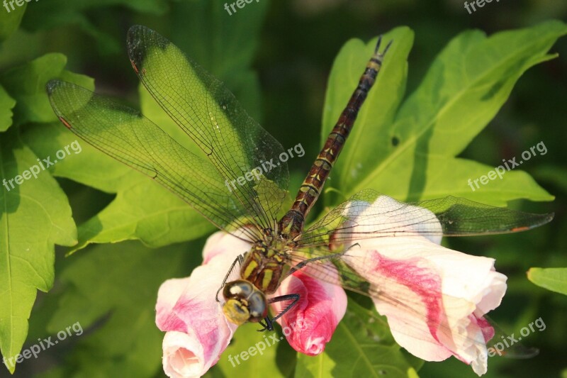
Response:
[[[67,197],[17,128],[0,138],[0,180],[0,350],[10,358],[26,340],[36,290],[52,287],[55,244],[77,243],[77,230]]]

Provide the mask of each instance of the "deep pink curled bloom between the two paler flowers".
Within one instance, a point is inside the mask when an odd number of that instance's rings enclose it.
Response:
[[[330,264],[332,269],[335,267]],[[305,267],[308,269],[309,267]],[[336,269],[335,269],[336,273]],[[299,294],[298,303],[278,319],[283,335],[289,345],[306,355],[318,355],[325,350],[332,334],[347,311],[347,294],[342,287],[327,284],[301,271],[285,279],[274,296]],[[288,306],[289,301],[271,305],[278,314]]]

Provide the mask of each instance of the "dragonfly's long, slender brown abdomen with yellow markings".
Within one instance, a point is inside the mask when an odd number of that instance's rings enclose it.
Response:
[[[317,201],[321,194],[322,187],[325,185],[327,177],[329,177],[332,166],[337,161],[337,157],[344,146],[349,134],[354,126],[354,121],[357,120],[359,110],[366,99],[372,85],[376,81],[376,76],[380,71],[382,65],[383,55],[388,50],[380,53],[378,48],[380,46],[380,39],[376,45],[376,51],[370,58],[364,74],[359,79],[357,89],[349,99],[347,106],[339,116],[339,120],[332,128],[331,133],[325,141],[325,145],[319,152],[319,155],[313,162],[313,166],[309,170],[307,177],[303,180],[303,184],[299,188],[296,200],[293,202],[291,209],[286,213],[279,222],[280,232],[286,238],[293,239],[301,234],[303,231],[303,223],[309,211],[313,208],[315,201]]]

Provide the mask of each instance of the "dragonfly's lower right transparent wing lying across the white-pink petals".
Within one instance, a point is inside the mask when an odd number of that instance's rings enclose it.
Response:
[[[400,280],[400,276],[391,277],[387,274],[374,274],[367,277],[368,280],[364,279],[358,272],[364,272],[364,269],[371,265],[369,262],[371,257],[370,255],[362,256],[352,250],[347,250],[341,257],[310,262],[301,269],[301,272],[371,297],[378,313],[389,314],[388,323],[392,321],[391,314],[395,314],[393,316],[399,333],[405,334],[405,337],[432,343],[432,345],[442,343],[455,355],[463,351],[475,355],[476,350],[494,348],[495,344],[506,339],[507,334],[485,315],[480,320],[485,322],[482,332],[471,333],[470,329],[456,326],[462,322],[462,316],[456,314],[470,313],[471,304],[449,294],[440,295],[436,284],[440,285],[441,282],[432,282],[429,277],[420,277],[411,272],[401,274],[401,277],[405,277],[405,281]],[[336,253],[337,250],[294,250],[290,252],[291,260],[288,264],[294,266],[298,262],[318,255]],[[329,261],[332,262],[332,265],[328,264]],[[408,295],[408,292],[411,291],[415,295]],[[473,322],[478,321],[473,320],[470,316],[468,318]],[[400,327],[400,323],[403,324],[403,327]],[[492,334],[491,330],[485,328],[486,324],[493,328]],[[536,348],[527,348],[521,343],[514,343],[508,345],[505,350],[498,350],[501,351],[500,355],[513,358],[534,357],[539,352]]]

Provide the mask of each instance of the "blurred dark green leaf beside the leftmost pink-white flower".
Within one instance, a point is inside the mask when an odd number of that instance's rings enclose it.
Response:
[[[201,260],[201,248],[150,250],[127,242],[70,257],[60,276],[60,307],[47,331],[57,335],[78,322],[85,332],[72,336],[75,344],[60,376],[155,377],[164,337],[155,326],[157,290],[166,279],[188,275]]]

